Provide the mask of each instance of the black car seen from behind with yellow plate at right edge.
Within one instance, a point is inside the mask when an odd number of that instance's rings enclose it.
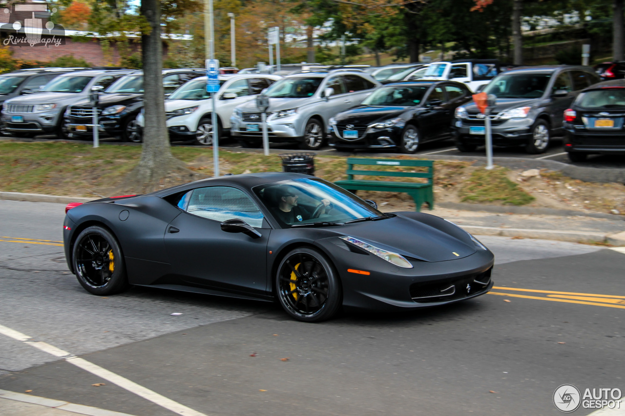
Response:
[[[564,150],[572,162],[589,154],[625,155],[625,79],[584,89],[564,111]]]

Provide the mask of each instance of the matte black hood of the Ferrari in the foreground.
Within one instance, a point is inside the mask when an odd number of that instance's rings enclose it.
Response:
[[[451,222],[420,212],[395,214],[389,219],[346,224],[332,230],[426,262],[461,259],[476,252],[469,234]]]

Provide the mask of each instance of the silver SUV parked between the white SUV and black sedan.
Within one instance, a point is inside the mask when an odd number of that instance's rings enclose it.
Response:
[[[328,119],[357,106],[379,85],[365,72],[344,69],[282,78],[265,91],[269,97],[269,141],[293,141],[299,142],[302,149],[319,149],[326,142]],[[237,106],[230,122],[230,134],[242,146],[262,143],[261,112],[256,100]]]

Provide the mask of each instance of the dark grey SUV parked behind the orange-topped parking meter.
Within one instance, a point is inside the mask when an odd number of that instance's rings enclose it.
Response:
[[[601,81],[585,66],[519,67],[504,72],[482,90],[497,101],[491,112],[492,144],[546,151],[562,136],[564,110],[582,89]],[[456,147],[471,152],[484,144],[484,115],[471,102],[456,109]]]

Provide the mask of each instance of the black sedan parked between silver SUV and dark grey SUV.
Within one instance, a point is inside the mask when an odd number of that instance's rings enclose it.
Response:
[[[469,100],[471,91],[460,82],[388,84],[329,120],[329,145],[339,151],[398,147],[414,153],[423,142],[450,139],[454,111]]]

